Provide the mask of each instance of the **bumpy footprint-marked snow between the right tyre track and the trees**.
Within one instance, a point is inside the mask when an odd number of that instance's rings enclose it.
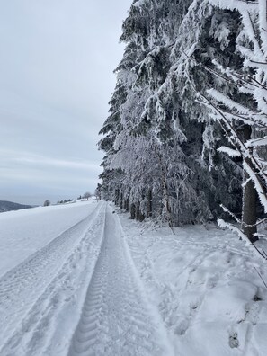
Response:
[[[179,356],[263,356],[266,262],[216,227],[151,229],[120,215],[149,302]],[[260,243],[260,245],[266,243]]]

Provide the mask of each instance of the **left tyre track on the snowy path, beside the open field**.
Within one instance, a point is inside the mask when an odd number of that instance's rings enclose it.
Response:
[[[14,351],[7,353],[4,352],[5,347],[15,348],[20,343],[25,333],[28,333],[31,323],[34,324],[36,321],[36,317],[34,318],[38,315],[36,307],[41,305],[41,302],[43,318],[48,315],[49,310],[56,307],[57,300],[49,296],[49,291],[52,292],[53,289],[53,280],[55,282],[62,280],[64,276],[62,267],[66,265],[67,260],[71,263],[71,256],[76,254],[76,249],[85,239],[86,232],[93,226],[95,220],[98,218],[101,221],[103,207],[103,203],[98,204],[87,218],[68,228],[1,278],[0,330],[4,347],[0,354],[21,355],[22,350],[18,353]]]

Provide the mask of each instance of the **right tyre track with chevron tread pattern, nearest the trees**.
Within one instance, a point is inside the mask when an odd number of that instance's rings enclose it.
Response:
[[[165,329],[142,291],[120,220],[108,209],[102,248],[68,356],[171,354]]]

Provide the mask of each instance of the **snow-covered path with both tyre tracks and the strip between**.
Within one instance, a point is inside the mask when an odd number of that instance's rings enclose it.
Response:
[[[0,354],[168,355],[106,203],[0,279]]]

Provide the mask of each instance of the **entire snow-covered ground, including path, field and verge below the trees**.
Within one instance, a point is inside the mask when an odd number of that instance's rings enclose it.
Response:
[[[1,356],[266,354],[267,264],[227,231],[173,234],[95,201],[0,228]]]

